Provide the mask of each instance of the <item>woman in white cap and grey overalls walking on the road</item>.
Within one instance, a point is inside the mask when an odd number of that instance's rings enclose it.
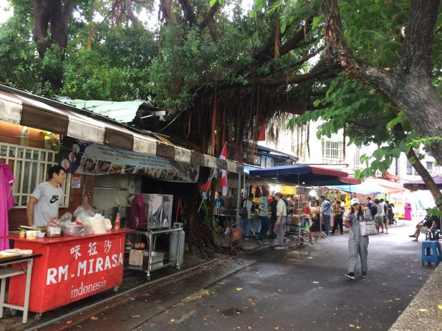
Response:
[[[350,201],[350,205],[352,205],[352,210],[349,216],[347,216],[347,221],[350,223],[348,238],[349,263],[348,272],[345,274],[345,277],[355,279],[358,257],[361,258],[362,277],[367,277],[368,236],[363,237],[361,235],[361,222],[365,221],[365,219],[359,199],[353,198]]]

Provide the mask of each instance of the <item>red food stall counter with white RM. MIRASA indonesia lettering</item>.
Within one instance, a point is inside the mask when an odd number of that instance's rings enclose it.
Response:
[[[29,310],[47,312],[84,299],[123,281],[124,239],[133,230],[110,230],[84,237],[20,239],[11,234],[15,248],[42,254],[34,260]],[[23,305],[26,275],[10,280],[8,303]]]

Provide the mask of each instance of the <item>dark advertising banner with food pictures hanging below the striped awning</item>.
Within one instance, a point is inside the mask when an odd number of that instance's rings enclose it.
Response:
[[[141,174],[183,183],[198,181],[198,165],[169,161],[121,148],[64,137],[61,141],[61,166],[72,174]]]

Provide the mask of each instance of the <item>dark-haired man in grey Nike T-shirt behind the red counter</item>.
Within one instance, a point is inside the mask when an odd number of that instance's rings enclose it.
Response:
[[[49,168],[48,181],[35,188],[26,206],[29,226],[46,226],[51,217],[57,219],[59,206],[63,199],[61,185],[65,179],[66,172],[63,167],[54,165]]]

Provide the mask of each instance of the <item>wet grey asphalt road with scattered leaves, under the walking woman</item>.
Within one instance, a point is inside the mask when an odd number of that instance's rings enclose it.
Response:
[[[175,284],[171,291],[182,299],[173,305],[159,297],[144,312],[142,303],[138,309],[121,307],[81,328],[388,330],[434,270],[421,266],[421,244],[407,237],[413,227],[403,222],[390,234],[370,237],[367,279],[361,278],[360,265],[356,280],[343,276],[348,234],[335,234],[333,242],[319,239],[313,248],[262,250],[256,263],[207,288],[197,279]]]

